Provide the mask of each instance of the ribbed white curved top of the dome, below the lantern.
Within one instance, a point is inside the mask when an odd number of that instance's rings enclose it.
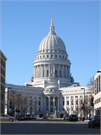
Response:
[[[39,45],[39,51],[43,50],[61,50],[66,51],[65,44],[62,41],[61,38],[59,38],[55,34],[49,33],[48,36],[46,36]]]

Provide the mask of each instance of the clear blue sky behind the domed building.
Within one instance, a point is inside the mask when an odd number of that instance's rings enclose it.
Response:
[[[7,83],[30,81],[51,18],[65,43],[75,82],[86,85],[101,68],[99,1],[2,1],[0,49],[7,57]]]

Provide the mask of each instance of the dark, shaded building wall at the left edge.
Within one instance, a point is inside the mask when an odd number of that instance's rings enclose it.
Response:
[[[0,105],[1,113],[4,113],[5,104],[5,74],[6,74],[6,60],[7,58],[0,50]]]

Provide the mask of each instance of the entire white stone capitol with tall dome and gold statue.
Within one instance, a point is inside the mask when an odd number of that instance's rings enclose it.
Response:
[[[94,94],[88,86],[80,86],[74,82],[70,74],[71,62],[68,59],[63,40],[56,35],[53,19],[48,35],[40,42],[36,60],[33,62],[34,73],[30,82],[23,86],[6,84],[6,102],[10,101],[10,91],[17,95],[18,102],[12,101],[14,113],[36,113],[53,117],[63,117],[64,114],[76,114],[84,117],[81,109],[85,103],[88,117],[90,98]],[[20,98],[22,97],[22,99]],[[14,97],[16,102],[16,96]],[[23,100],[23,106],[20,105]],[[14,99],[13,99],[14,100]],[[11,108],[6,107],[6,111]]]

